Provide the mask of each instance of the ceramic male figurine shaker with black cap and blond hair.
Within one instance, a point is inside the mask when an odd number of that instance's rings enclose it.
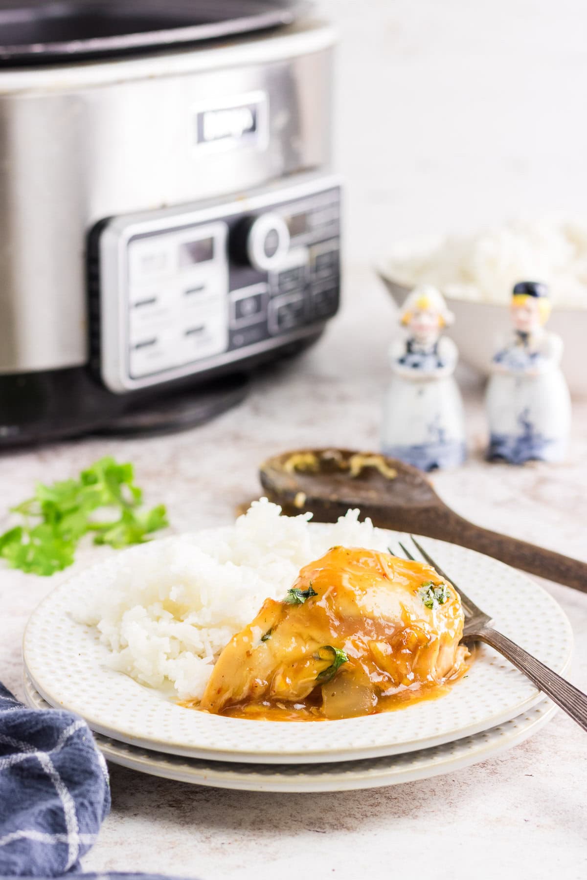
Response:
[[[561,337],[544,328],[550,309],[546,284],[516,284],[510,312],[513,333],[495,354],[487,390],[488,458],[513,465],[532,458],[564,458],[570,396],[559,366]]]

